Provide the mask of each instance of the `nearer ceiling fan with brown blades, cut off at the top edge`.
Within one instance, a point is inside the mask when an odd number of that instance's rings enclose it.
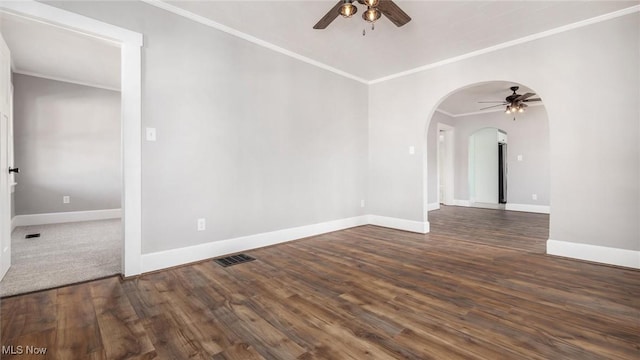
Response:
[[[411,17],[391,0],[340,0],[313,28],[325,29],[338,15],[342,15],[345,18],[352,17],[358,12],[358,8],[353,4],[355,2],[367,7],[367,10],[362,14],[362,18],[371,24],[380,19],[383,14],[398,27],[411,21]]]

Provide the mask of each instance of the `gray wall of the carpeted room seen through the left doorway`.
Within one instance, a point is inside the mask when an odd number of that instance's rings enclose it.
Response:
[[[15,214],[119,209],[120,93],[20,74],[13,85]]]

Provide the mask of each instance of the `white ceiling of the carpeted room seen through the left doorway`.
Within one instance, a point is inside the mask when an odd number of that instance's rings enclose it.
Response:
[[[96,37],[0,12],[14,72],[120,89],[120,47]]]

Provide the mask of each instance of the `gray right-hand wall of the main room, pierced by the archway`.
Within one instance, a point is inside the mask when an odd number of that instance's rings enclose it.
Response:
[[[640,250],[640,102],[635,101],[640,98],[639,16],[626,15],[372,85],[370,212],[423,221],[428,203],[425,158],[407,156],[406,147],[428,148],[431,116],[447,94],[476,83],[509,80],[535,89],[548,113],[549,237]],[[390,97],[393,102],[384,101]]]

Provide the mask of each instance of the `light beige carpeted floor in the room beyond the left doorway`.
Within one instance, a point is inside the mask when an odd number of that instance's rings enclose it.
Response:
[[[25,235],[40,233],[26,239]],[[121,273],[120,219],[17,227],[0,297]]]

